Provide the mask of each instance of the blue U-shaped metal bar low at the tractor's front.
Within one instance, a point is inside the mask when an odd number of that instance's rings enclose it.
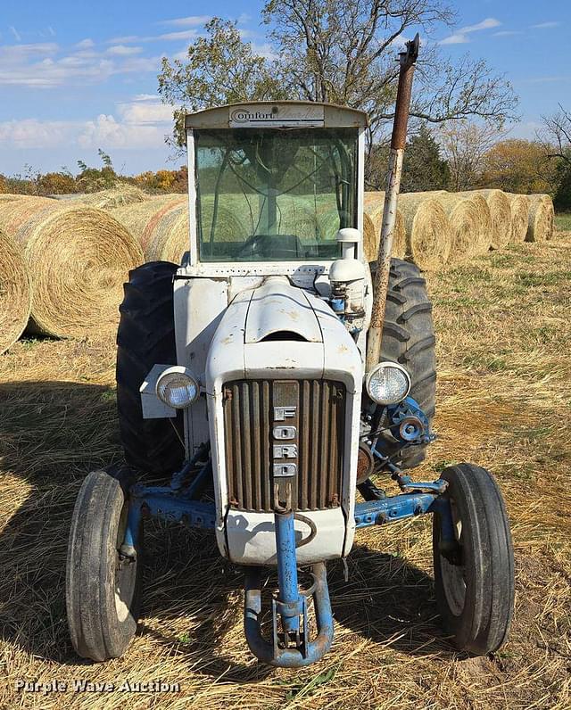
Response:
[[[275,648],[274,643],[265,640],[261,635],[261,567],[248,569],[244,595],[244,633],[250,650],[262,663],[280,668],[300,668],[319,661],[331,647],[333,614],[327,588],[325,562],[314,565],[312,572],[315,578],[313,607],[318,635],[315,640],[310,641],[307,635],[307,623],[304,623],[301,648]]]

